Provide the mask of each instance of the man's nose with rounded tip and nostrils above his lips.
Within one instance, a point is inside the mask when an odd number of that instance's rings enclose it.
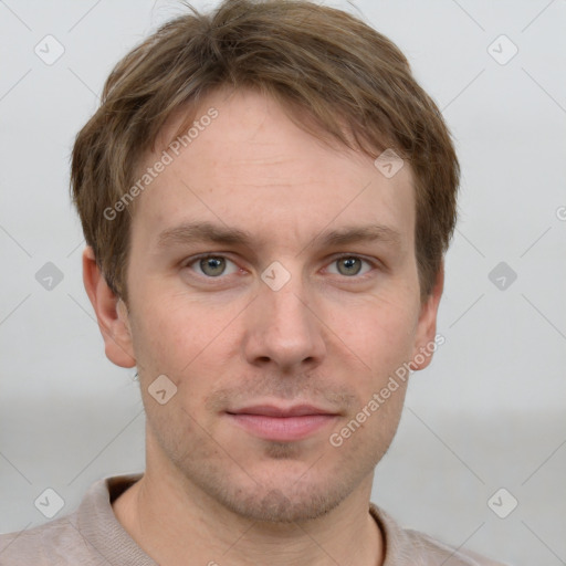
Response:
[[[248,310],[244,355],[249,364],[279,371],[305,371],[325,357],[324,324],[292,277],[283,289],[263,285]]]

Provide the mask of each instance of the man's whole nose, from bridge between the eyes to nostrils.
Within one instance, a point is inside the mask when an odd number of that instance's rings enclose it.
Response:
[[[305,304],[312,301],[301,274],[272,264],[262,280],[249,328],[248,359],[287,367],[319,361],[325,353],[321,323]]]

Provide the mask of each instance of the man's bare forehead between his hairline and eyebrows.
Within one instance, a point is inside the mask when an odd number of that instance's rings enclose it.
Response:
[[[412,175],[391,178],[360,151],[317,139],[273,98],[218,91],[171,119],[145,160],[168,165],[136,202],[134,232],[147,242],[187,221],[211,221],[279,241],[310,239],[328,228],[389,227],[412,243]],[[165,145],[167,142],[169,145]],[[145,170],[145,169],[144,169]],[[142,171],[143,172],[143,171]]]

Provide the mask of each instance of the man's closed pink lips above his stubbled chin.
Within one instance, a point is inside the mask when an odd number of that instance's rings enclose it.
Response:
[[[332,424],[338,413],[311,405],[244,407],[226,411],[238,427],[264,440],[292,442],[315,434]]]

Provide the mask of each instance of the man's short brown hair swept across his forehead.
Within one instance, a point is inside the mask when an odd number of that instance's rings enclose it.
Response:
[[[115,66],[98,111],[76,137],[71,174],[86,243],[109,287],[127,301],[132,217],[127,210],[108,220],[105,210],[130,188],[164,124],[222,86],[259,88],[347,147],[373,158],[394,148],[408,160],[421,297],[428,296],[457,218],[460,168],[448,128],[391,41],[354,15],[306,0],[224,0],[210,14],[191,8]]]

